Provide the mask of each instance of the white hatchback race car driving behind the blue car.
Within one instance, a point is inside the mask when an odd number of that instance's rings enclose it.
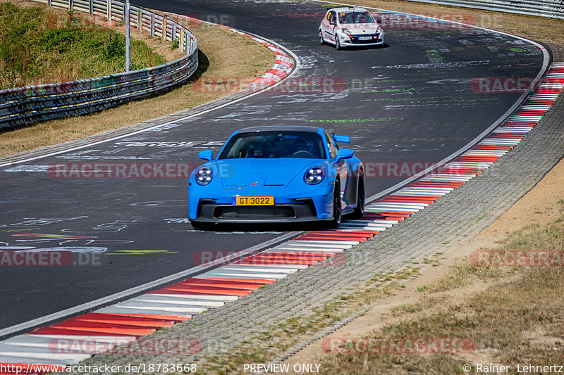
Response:
[[[319,42],[331,43],[336,49],[345,46],[380,46],[384,30],[372,14],[359,6],[330,8],[319,25]]]

